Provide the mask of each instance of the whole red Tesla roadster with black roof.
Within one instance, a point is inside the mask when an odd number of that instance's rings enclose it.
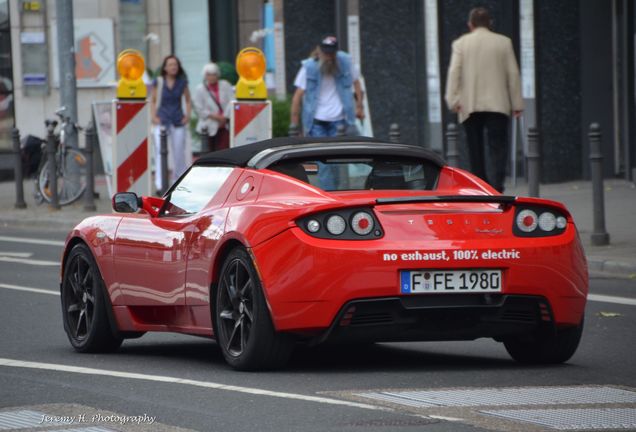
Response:
[[[283,138],[209,153],[162,198],[118,193],[69,234],[64,328],[80,352],[147,331],[213,337],[234,368],[295,344],[473,340],[520,362],[576,351],[588,292],[560,203],[505,196],[435,153]]]

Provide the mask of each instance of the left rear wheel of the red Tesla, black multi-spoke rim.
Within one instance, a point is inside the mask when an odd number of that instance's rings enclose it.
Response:
[[[275,369],[287,362],[293,341],[276,332],[258,273],[245,249],[232,250],[223,262],[213,310],[216,341],[231,367]]]

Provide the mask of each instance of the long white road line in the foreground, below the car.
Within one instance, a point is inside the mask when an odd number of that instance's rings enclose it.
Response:
[[[8,358],[0,358],[0,366],[6,367],[16,367],[16,368],[26,368],[26,369],[41,369],[41,370],[52,370],[58,372],[68,372],[68,373],[76,373],[83,375],[99,375],[99,376],[109,376],[115,378],[126,378],[126,379],[134,379],[134,380],[143,380],[143,381],[155,381],[155,382],[163,382],[163,383],[172,383],[172,384],[184,384],[191,385],[195,387],[203,387],[210,388],[215,390],[225,390],[232,391],[237,393],[247,393],[251,395],[258,396],[271,396],[283,399],[292,399],[298,401],[305,402],[316,402],[327,405],[341,405],[353,408],[362,408],[369,409],[375,411],[393,411],[390,408],[369,405],[365,403],[359,402],[349,402],[339,399],[330,399],[320,396],[310,396],[303,395],[297,393],[286,393],[286,392],[277,392],[273,390],[264,390],[253,387],[241,387],[241,386],[233,386],[226,384],[219,384],[210,381],[196,381],[185,378],[176,378],[164,375],[149,375],[149,374],[140,374],[140,373],[132,373],[132,372],[120,372],[114,370],[107,369],[94,369],[94,368],[86,368],[79,366],[69,366],[55,363],[41,363],[41,362],[30,362],[30,361],[22,361],[22,360],[13,360]]]

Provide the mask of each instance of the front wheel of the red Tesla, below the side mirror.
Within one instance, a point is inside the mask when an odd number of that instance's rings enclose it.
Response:
[[[64,330],[78,352],[115,351],[123,338],[110,322],[110,302],[88,246],[79,243],[66,259],[61,286]]]

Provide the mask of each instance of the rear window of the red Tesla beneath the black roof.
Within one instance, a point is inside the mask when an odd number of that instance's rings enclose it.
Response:
[[[432,190],[440,171],[427,160],[386,156],[282,160],[268,168],[326,191]]]

